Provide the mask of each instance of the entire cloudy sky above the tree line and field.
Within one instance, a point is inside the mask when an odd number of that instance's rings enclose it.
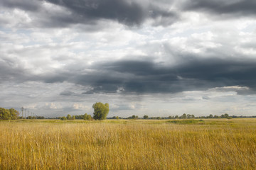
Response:
[[[1,0],[0,107],[256,115],[256,1]]]

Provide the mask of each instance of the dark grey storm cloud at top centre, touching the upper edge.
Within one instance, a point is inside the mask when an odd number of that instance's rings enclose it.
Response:
[[[174,22],[178,16],[168,8],[154,6],[148,2],[127,0],[47,0],[58,6],[64,6],[73,13],[74,23],[87,23],[99,19],[110,19],[124,23],[127,26],[140,26],[147,18],[161,17],[169,23]],[[171,2],[169,7],[171,7]],[[75,21],[77,19],[77,21]],[[160,21],[165,24],[167,21]]]

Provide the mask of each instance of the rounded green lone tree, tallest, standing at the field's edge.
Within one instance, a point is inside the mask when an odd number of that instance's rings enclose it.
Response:
[[[107,118],[107,114],[110,111],[110,106],[108,103],[101,103],[101,102],[97,102],[94,103],[92,105],[92,108],[94,108],[94,112],[93,112],[93,118],[95,120],[104,120]]]

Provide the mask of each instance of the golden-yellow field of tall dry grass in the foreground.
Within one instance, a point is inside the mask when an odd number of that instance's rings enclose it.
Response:
[[[256,169],[255,160],[253,118],[0,121],[0,169]]]

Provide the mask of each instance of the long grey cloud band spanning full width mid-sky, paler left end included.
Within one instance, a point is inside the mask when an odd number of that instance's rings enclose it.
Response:
[[[2,59],[0,64],[1,81],[70,82],[90,87],[81,94],[176,93],[221,86],[246,86],[256,91],[256,63],[249,59],[180,56],[172,66],[151,60],[117,60],[95,62],[90,66],[67,65],[43,74],[28,72],[13,60]],[[250,93],[239,89],[236,91],[238,94]],[[72,94],[63,91],[60,95]]]

